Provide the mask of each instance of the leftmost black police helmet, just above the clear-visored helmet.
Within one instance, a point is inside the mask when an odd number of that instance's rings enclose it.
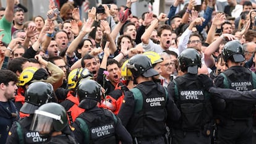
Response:
[[[33,82],[25,91],[25,103],[20,111],[33,114],[41,105],[51,102],[54,98],[53,85],[46,82]]]

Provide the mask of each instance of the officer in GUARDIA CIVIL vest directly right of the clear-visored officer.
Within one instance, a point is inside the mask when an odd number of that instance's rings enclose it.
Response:
[[[79,107],[85,109],[74,122],[79,143],[132,143],[129,132],[113,112],[98,108],[101,86],[94,80],[82,80],[77,88]]]

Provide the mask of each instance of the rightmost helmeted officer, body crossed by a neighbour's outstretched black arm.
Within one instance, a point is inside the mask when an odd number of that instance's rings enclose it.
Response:
[[[216,87],[233,90],[252,90],[255,85],[255,74],[241,66],[244,59],[242,44],[236,40],[229,41],[223,49],[223,59],[228,69],[215,79]],[[224,109],[216,111],[218,124],[218,142],[252,143],[252,110],[253,104],[244,101],[225,100]]]

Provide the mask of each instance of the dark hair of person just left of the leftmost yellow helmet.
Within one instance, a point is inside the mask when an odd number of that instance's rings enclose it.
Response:
[[[17,71],[22,72],[22,64],[25,64],[25,62],[29,62],[27,58],[17,57],[9,61],[7,69],[11,70],[15,74]]]

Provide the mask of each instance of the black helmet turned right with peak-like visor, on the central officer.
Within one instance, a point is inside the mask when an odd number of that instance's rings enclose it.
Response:
[[[144,77],[153,77],[155,75],[159,75],[159,73],[152,68],[150,59],[143,54],[137,54],[131,57],[126,66],[127,69],[132,72],[132,76],[134,78],[137,78],[140,75],[143,75]]]

